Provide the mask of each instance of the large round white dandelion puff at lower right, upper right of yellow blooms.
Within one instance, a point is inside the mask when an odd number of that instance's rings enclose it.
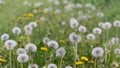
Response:
[[[92,55],[94,57],[101,57],[104,54],[104,50],[101,47],[95,47],[92,49]]]

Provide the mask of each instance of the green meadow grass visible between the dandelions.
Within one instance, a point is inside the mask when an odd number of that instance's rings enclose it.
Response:
[[[72,62],[74,60],[73,55],[73,44],[68,41],[68,37],[69,34],[71,32],[76,32],[79,33],[77,31],[77,29],[71,29],[69,26],[69,19],[71,17],[75,17],[76,19],[78,19],[78,11],[83,11],[83,14],[88,14],[87,12],[89,11],[86,8],[82,8],[82,9],[73,9],[70,12],[66,12],[63,9],[63,5],[59,5],[59,6],[55,6],[53,3],[48,3],[46,0],[41,0],[44,4],[42,7],[36,9],[33,7],[35,2],[39,2],[40,0],[29,0],[29,2],[31,3],[32,6],[23,6],[23,2],[24,0],[5,0],[4,4],[0,4],[0,35],[2,35],[3,33],[9,33],[10,38],[11,39],[15,39],[17,42],[19,42],[20,45],[22,45],[22,47],[25,46],[25,44],[27,44],[26,40],[20,40],[19,37],[21,36],[25,36],[25,38],[28,39],[28,37],[26,35],[24,35],[24,26],[26,24],[28,24],[31,21],[37,21],[40,24],[38,24],[38,27],[34,29],[32,36],[31,36],[31,43],[36,44],[38,50],[36,53],[32,53],[33,55],[33,59],[34,59],[34,63],[37,63],[39,66],[44,66],[45,64],[47,65],[48,62],[43,62],[44,60],[49,60],[50,58],[50,51],[52,51],[50,48],[48,48],[48,52],[47,53],[43,53],[40,51],[41,47],[47,47],[45,44],[43,44],[42,39],[44,37],[49,37],[52,40],[56,40],[59,44],[60,47],[65,47],[67,54],[66,57],[63,58],[64,64],[65,65],[71,65],[73,66],[74,63]],[[88,33],[91,33],[92,29],[96,26],[98,26],[98,22],[106,22],[109,21],[113,24],[113,22],[115,20],[120,20],[120,0],[70,0],[72,3],[76,4],[76,3],[81,3],[81,4],[86,4],[86,3],[92,3],[93,5],[96,6],[97,10],[91,10],[91,14],[92,16],[94,16],[92,19],[87,19],[85,21],[81,21],[78,19],[78,21],[80,22],[80,25],[85,25],[88,28],[87,33],[82,34],[80,33],[81,37],[82,37],[82,42],[78,44],[78,55],[79,57],[81,56],[87,56],[88,59],[90,60],[94,60],[94,58],[91,55],[91,45],[92,46],[100,46],[103,49],[104,44],[109,41],[111,39],[111,37],[116,36],[116,34],[120,34],[120,32],[117,33],[116,28],[112,27],[108,33],[106,33],[105,30],[103,30],[103,34],[98,36],[96,40],[89,42],[88,40],[85,40],[86,35]],[[53,9],[57,9],[59,8],[62,13],[61,14],[55,14],[54,11],[53,12],[43,12],[43,8],[44,7],[49,7],[51,6]],[[33,17],[26,17],[24,16],[26,13],[32,13],[32,10],[37,10],[38,13],[34,14]],[[97,18],[96,17],[96,12],[103,12],[104,13],[104,17],[103,18]],[[46,21],[42,22],[39,20],[40,17],[45,17]],[[22,20],[20,19],[22,18]],[[39,21],[38,21],[39,20]],[[60,26],[62,21],[66,21],[67,25],[65,27]],[[22,29],[22,34],[20,35],[13,35],[12,34],[12,28],[14,26],[19,26]],[[60,30],[64,30],[64,34],[60,33]],[[106,35],[107,38],[106,38]],[[105,37],[105,41],[101,40],[101,38]],[[63,40],[64,42],[61,43],[60,40]],[[101,43],[102,42],[102,43]],[[3,45],[3,42],[1,41],[1,47]],[[83,46],[85,45],[85,46]],[[87,46],[88,45],[88,46]],[[89,46],[90,45],[90,46]],[[108,54],[108,59],[109,59],[109,63],[106,64],[108,65],[108,68],[110,67],[110,64],[113,61],[117,61],[118,64],[119,62],[119,58],[114,58],[114,49],[118,44],[115,44],[114,47],[112,47],[110,54]],[[13,57],[12,59],[16,58],[16,55],[14,55],[16,49],[19,48],[19,46],[17,46],[14,50],[13,50]],[[55,50],[53,50],[55,51]],[[0,54],[4,56],[4,58],[7,60],[7,63],[9,61],[9,58],[7,56],[8,55],[8,51],[6,51],[6,49],[3,49],[3,51],[0,51]],[[47,56],[46,56],[47,54]],[[55,56],[55,54],[53,54]],[[39,58],[38,58],[39,56]],[[44,58],[45,57],[45,58]],[[36,59],[37,58],[37,59]],[[42,58],[42,59],[41,59]],[[101,61],[104,59],[104,56],[101,58],[98,58]],[[99,63],[100,60],[98,60],[97,62]],[[52,60],[54,63],[56,63],[59,66],[60,63],[60,58],[55,57]],[[5,64],[7,64],[5,63]],[[17,60],[13,60],[13,64],[18,63]],[[5,65],[3,64],[3,65]],[[24,66],[26,67],[26,65],[28,65],[29,63],[25,63]],[[104,62],[101,62],[100,64],[102,64],[101,66],[103,68],[105,68],[104,66]],[[89,66],[89,63],[85,63],[84,65]],[[13,65],[14,66],[14,65]],[[91,65],[91,68],[94,65]],[[9,65],[8,65],[9,67]],[[21,67],[18,64],[18,67]],[[98,64],[99,67],[99,64]],[[84,66],[83,66],[84,68]],[[106,67],[107,68],[107,67]]]

